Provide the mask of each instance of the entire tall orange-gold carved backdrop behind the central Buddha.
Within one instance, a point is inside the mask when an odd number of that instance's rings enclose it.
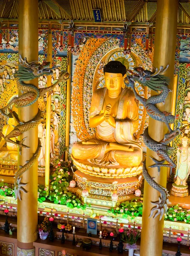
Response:
[[[150,59],[147,63],[142,62],[135,52],[124,55],[123,49],[118,47],[118,38],[89,38],[81,50],[78,58],[72,82],[72,116],[73,125],[80,140],[88,139],[95,130],[89,127],[89,111],[92,93],[100,87],[104,87],[103,67],[108,61],[121,61],[128,70],[141,66],[146,69],[150,66]],[[138,47],[137,52],[142,51]],[[144,97],[148,96],[147,88],[136,83],[137,92]],[[147,127],[148,119],[144,107],[139,105],[139,127],[136,137],[142,144],[144,128]]]

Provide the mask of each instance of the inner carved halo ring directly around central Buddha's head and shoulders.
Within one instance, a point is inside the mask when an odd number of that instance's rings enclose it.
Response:
[[[124,64],[127,68],[127,70],[133,71],[135,67],[143,67],[144,65],[141,61],[141,59],[131,51],[130,55],[124,55],[123,48],[115,48],[111,49],[109,52],[107,52],[106,55],[103,56],[101,61],[99,61],[93,78],[93,84],[92,84],[92,93],[99,89],[104,87],[105,81],[104,81],[104,72],[103,67],[106,65],[109,61],[121,61],[122,64]],[[128,72],[130,75],[130,72]],[[142,86],[138,82],[135,83],[135,89],[137,93],[147,99],[147,87]],[[144,130],[144,124],[145,124],[145,118],[146,118],[146,110],[144,106],[139,103],[139,124],[138,124],[138,130],[135,132],[135,137],[138,139],[140,135],[143,133]]]

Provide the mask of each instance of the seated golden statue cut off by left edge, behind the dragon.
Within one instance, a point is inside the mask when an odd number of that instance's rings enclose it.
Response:
[[[17,123],[15,122],[14,118],[9,118],[8,124],[3,127],[3,135],[6,136],[11,131],[13,131],[15,125],[17,125]],[[12,138],[12,140],[16,141],[16,138]],[[6,146],[4,146],[5,144]],[[0,141],[0,159],[7,161],[17,161],[17,154],[17,145],[6,142],[2,137]]]

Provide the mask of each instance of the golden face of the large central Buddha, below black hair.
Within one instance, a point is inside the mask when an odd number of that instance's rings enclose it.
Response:
[[[124,83],[122,74],[105,73],[104,75],[105,85],[107,90],[118,91],[121,90]]]

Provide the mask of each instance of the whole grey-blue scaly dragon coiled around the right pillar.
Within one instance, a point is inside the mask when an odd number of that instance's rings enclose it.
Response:
[[[158,161],[151,157],[155,164],[150,166],[150,168],[157,167],[158,175],[161,167],[176,167],[176,164],[173,162],[173,160],[170,159],[170,156],[172,155],[173,152],[173,148],[170,147],[170,145],[168,144],[180,133],[179,129],[173,131],[170,128],[170,124],[174,123],[175,121],[175,116],[171,115],[171,113],[168,113],[166,111],[161,112],[155,106],[155,104],[157,103],[165,103],[165,99],[167,98],[168,93],[170,92],[170,89],[167,87],[169,79],[164,75],[161,75],[161,73],[164,73],[167,70],[167,67],[166,69],[160,67],[159,70],[155,70],[155,73],[149,70],[144,70],[142,67],[137,67],[135,68],[133,73],[130,71],[132,75],[127,76],[126,79],[124,79],[125,84],[127,85],[127,87],[130,87],[133,90],[136,99],[139,102],[141,102],[141,104],[146,109],[148,115],[157,121],[164,122],[169,130],[169,133],[165,134],[164,139],[161,140],[160,142],[153,140],[149,136],[148,127],[145,129],[143,134],[143,140],[145,145],[151,150],[155,151],[158,154],[158,156],[161,157],[162,159],[161,161]],[[151,96],[148,99],[144,99],[143,97],[139,96],[135,90],[135,81],[138,81],[143,86],[147,86],[151,90],[154,90],[158,93],[158,95]],[[167,163],[164,163],[165,161],[167,161]],[[155,218],[158,215],[160,215],[161,220],[162,216],[167,211],[167,203],[169,202],[168,191],[167,189],[156,183],[154,178],[149,175],[149,173],[146,170],[146,161],[144,161],[143,164],[143,175],[147,183],[161,194],[158,201],[151,202],[154,205],[154,207],[151,209],[149,217],[153,216],[153,218]]]

